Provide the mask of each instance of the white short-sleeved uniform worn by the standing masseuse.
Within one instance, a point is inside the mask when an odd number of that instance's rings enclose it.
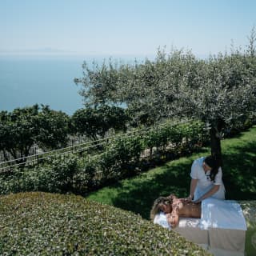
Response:
[[[198,158],[194,160],[191,166],[190,177],[198,180],[196,190],[194,191],[194,200],[197,200],[203,194],[206,194],[214,185],[220,185],[220,187],[211,197],[225,199],[225,187],[222,182],[222,167],[218,168],[218,173],[216,174],[214,181],[212,181],[210,179],[210,170],[205,173],[202,168],[204,160],[204,157]]]

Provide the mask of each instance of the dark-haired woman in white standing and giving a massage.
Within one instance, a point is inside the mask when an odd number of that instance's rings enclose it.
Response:
[[[225,199],[222,167],[211,156],[194,160],[191,166],[190,196],[188,201],[202,202],[206,198]]]

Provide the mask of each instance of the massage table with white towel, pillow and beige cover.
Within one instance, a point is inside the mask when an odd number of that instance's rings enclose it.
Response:
[[[163,213],[156,215],[154,223],[171,229]],[[180,218],[173,230],[215,256],[245,255],[246,220],[233,200],[206,199],[201,218]]]

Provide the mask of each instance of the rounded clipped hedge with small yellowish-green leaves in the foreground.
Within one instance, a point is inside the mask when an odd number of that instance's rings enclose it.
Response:
[[[173,231],[75,195],[0,197],[1,255],[207,255]]]

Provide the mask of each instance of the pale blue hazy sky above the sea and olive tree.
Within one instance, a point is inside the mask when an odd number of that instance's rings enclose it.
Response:
[[[0,0],[0,52],[152,55],[244,47],[256,0]]]

